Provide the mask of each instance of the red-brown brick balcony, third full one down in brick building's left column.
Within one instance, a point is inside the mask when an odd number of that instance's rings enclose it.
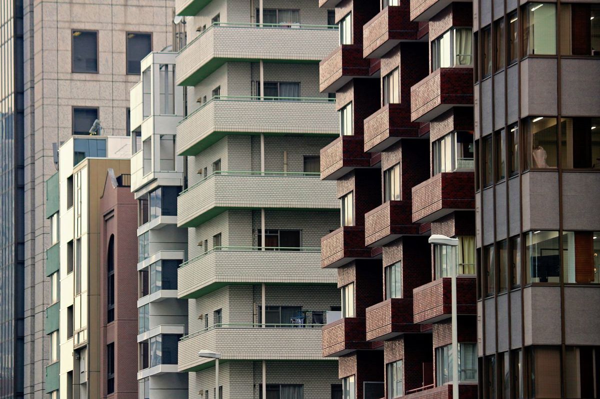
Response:
[[[363,226],[342,226],[321,238],[321,267],[338,268],[356,259],[370,259]]]

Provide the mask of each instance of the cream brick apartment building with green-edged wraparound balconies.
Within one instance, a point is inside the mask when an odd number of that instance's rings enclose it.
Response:
[[[340,312],[335,271],[320,268],[320,237],[340,217],[319,179],[319,150],[338,134],[318,78],[338,41],[332,13],[308,0],[191,0],[176,13],[188,32],[175,77],[188,104],[176,140],[188,393],[338,398],[337,362],[321,356],[321,327]]]

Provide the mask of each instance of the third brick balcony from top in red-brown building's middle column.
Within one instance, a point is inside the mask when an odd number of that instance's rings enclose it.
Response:
[[[388,201],[365,213],[365,245],[383,246],[403,235],[419,235],[410,201]]]

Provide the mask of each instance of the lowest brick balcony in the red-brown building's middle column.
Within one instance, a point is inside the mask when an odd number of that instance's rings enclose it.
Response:
[[[391,298],[370,306],[367,312],[367,341],[383,341],[404,333],[420,333],[413,324],[412,298]]]

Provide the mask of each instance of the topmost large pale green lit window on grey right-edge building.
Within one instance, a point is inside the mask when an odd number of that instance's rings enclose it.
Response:
[[[523,6],[523,56],[556,54],[556,4]]]

